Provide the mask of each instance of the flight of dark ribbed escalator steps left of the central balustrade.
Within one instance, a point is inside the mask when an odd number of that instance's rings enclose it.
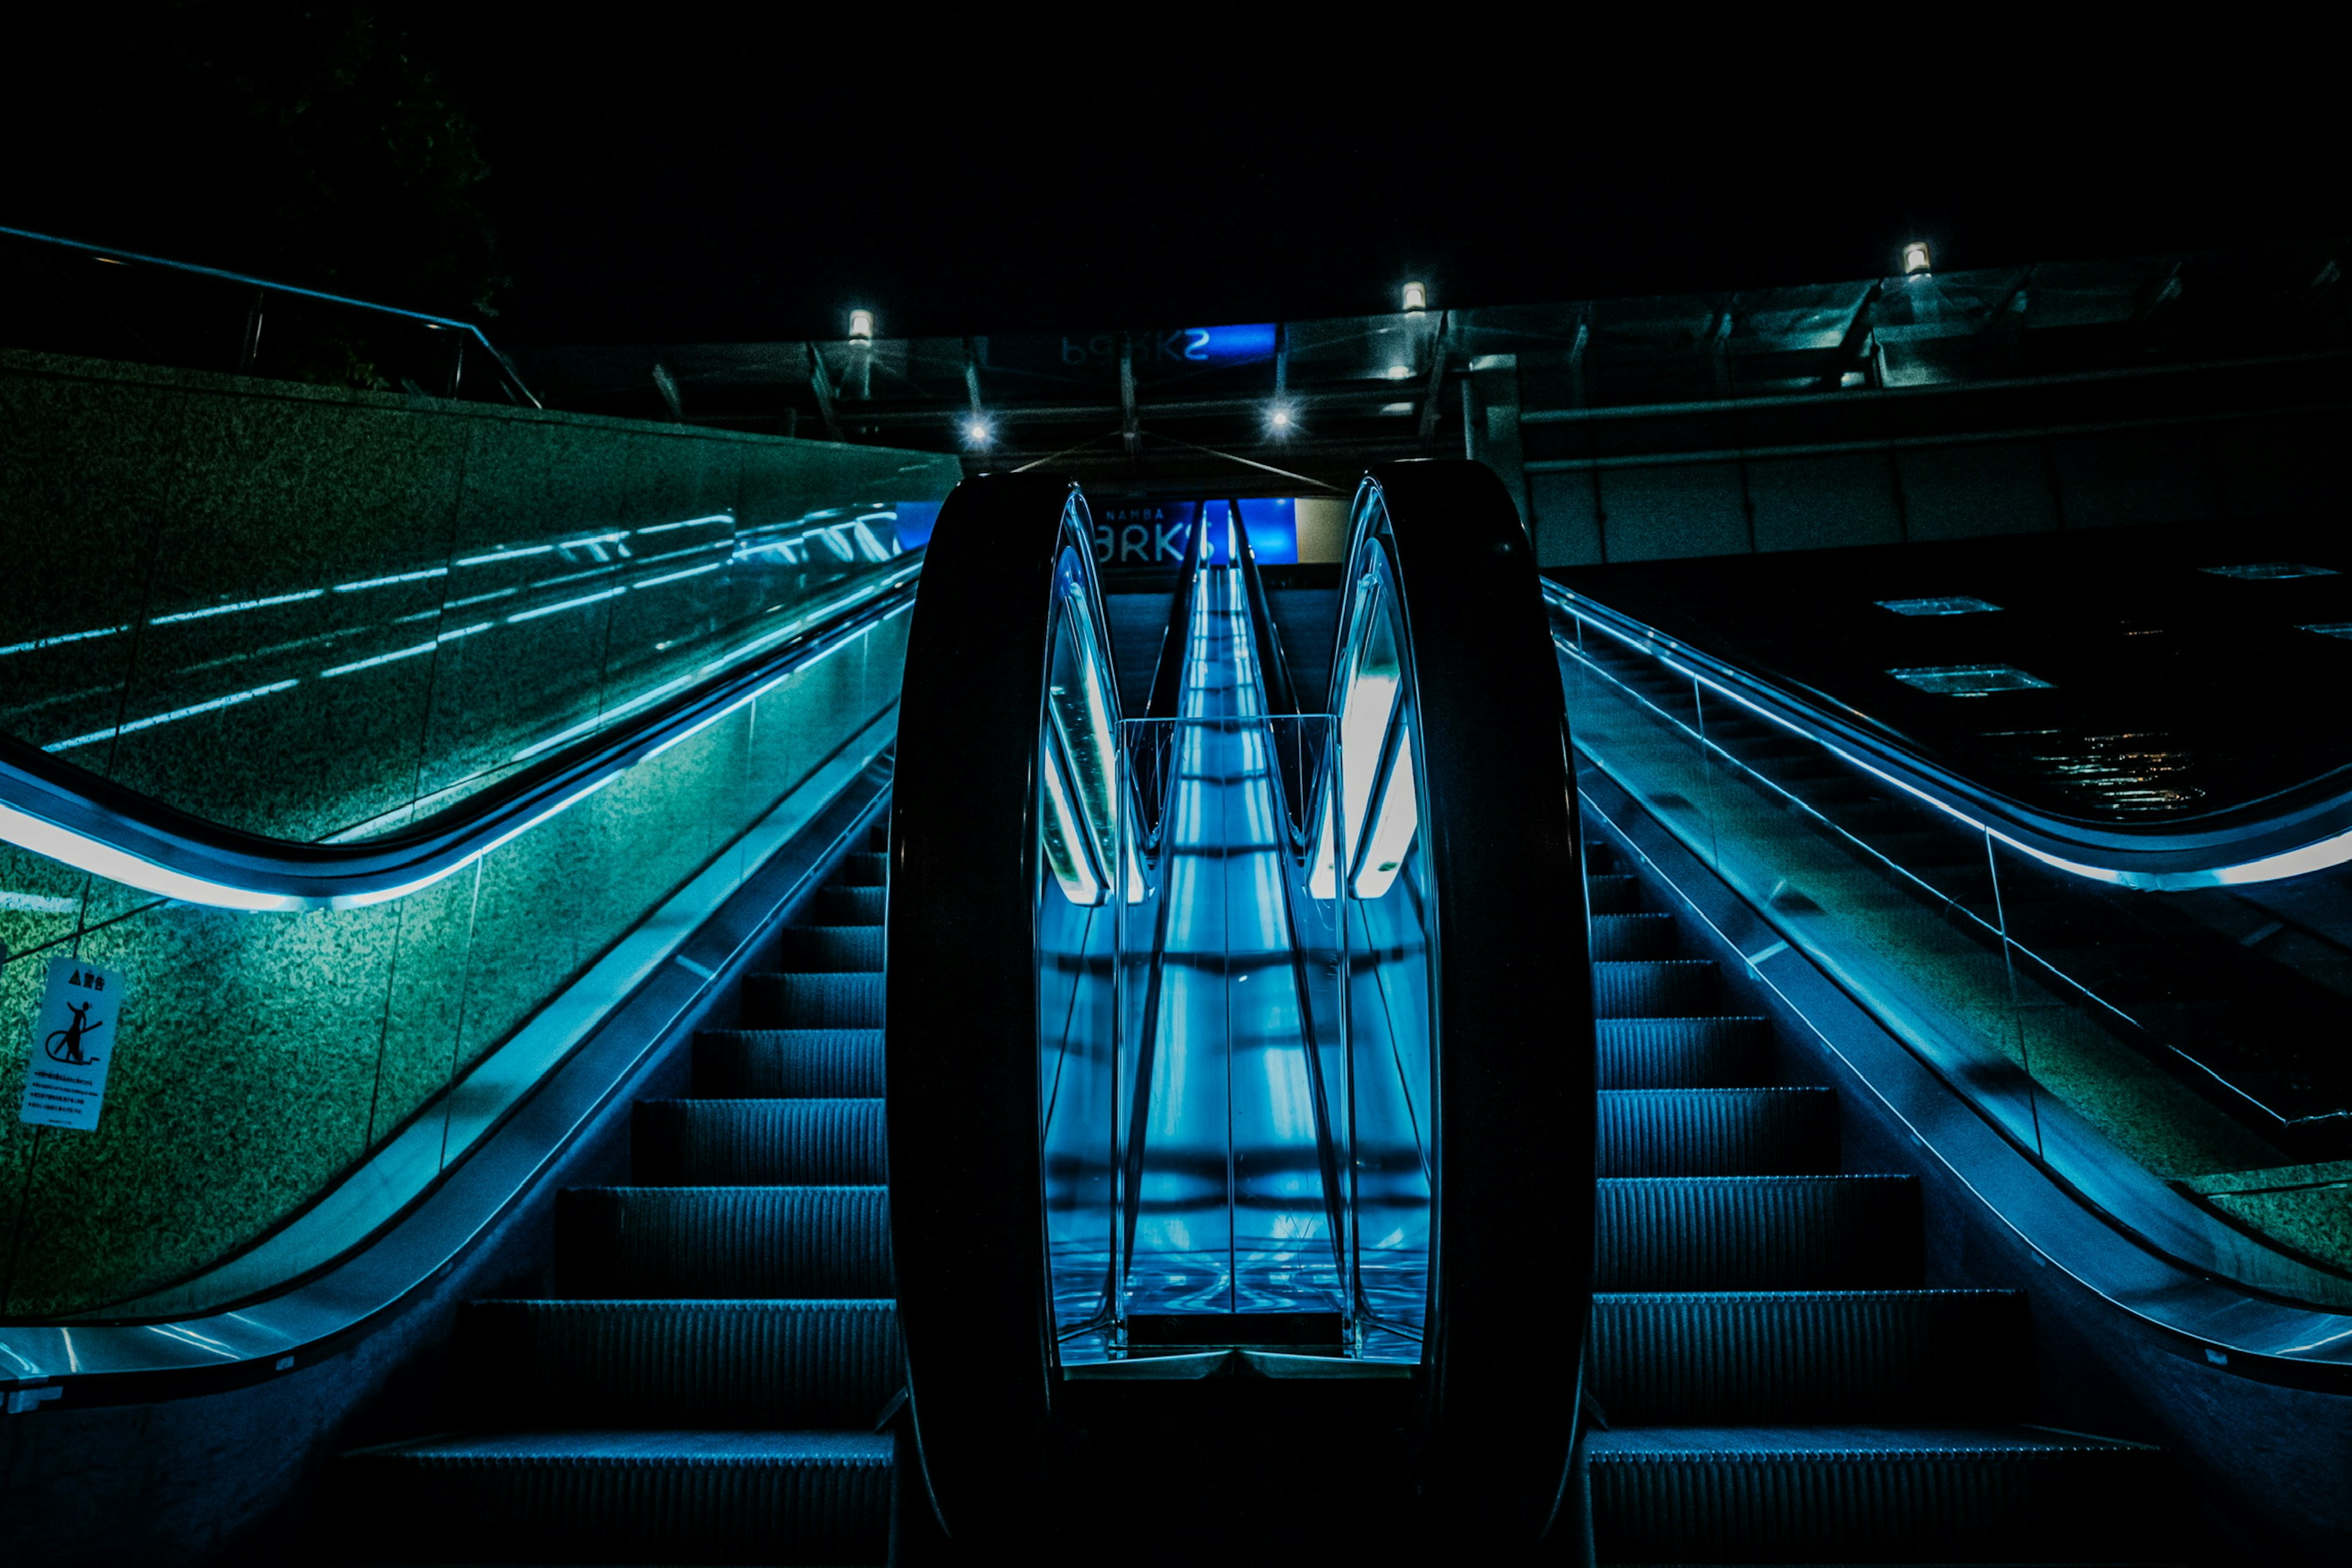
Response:
[[[781,931],[628,1187],[564,1192],[560,1298],[470,1302],[470,1425],[341,1460],[402,1561],[882,1563],[901,1387],[882,1143],[882,830]]]

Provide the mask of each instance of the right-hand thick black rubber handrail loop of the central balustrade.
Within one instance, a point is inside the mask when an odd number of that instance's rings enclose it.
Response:
[[[1517,1561],[1548,1533],[1581,1530],[1569,1460],[1597,1095],[1566,712],[1534,550],[1484,465],[1371,470],[1350,522],[1343,637],[1374,552],[1402,607],[1430,867],[1423,1507],[1456,1554]]]

